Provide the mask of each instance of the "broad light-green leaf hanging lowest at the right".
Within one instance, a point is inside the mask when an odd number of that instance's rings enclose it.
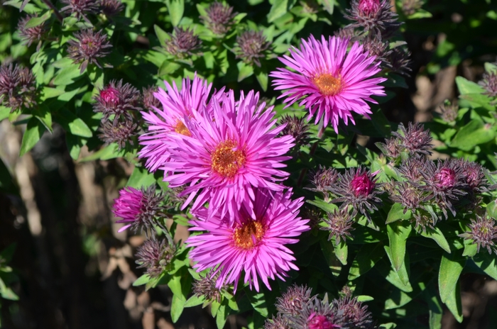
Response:
[[[442,303],[447,304],[447,299],[453,296],[453,291],[457,286],[459,275],[465,263],[466,260],[464,258],[457,257],[454,254],[444,253],[442,255],[442,262],[440,262],[438,273],[438,289]]]

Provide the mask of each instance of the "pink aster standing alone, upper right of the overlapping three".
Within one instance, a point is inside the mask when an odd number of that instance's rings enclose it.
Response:
[[[300,106],[309,109],[309,120],[316,114],[315,123],[324,117],[324,127],[329,122],[336,132],[339,118],[345,124],[349,120],[355,124],[352,112],[369,118],[371,109],[366,101],[377,103],[371,96],[385,96],[385,78],[371,78],[381,71],[380,62],[369,56],[363,46],[354,43],[349,52],[346,38],[321,37],[316,40],[312,35],[302,39],[300,50],[290,49],[290,56],[280,57],[283,64],[295,70],[278,68],[271,72],[275,77],[275,89],[285,90],[280,96],[286,97],[287,106],[300,101]]]

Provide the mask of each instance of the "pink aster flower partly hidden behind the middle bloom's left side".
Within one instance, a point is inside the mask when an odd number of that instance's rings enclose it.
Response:
[[[140,137],[140,144],[144,147],[138,155],[147,158],[146,167],[151,172],[170,160],[165,140],[169,139],[171,132],[191,136],[185,126],[185,117],[192,117],[193,113],[207,106],[212,87],[212,84],[207,84],[207,81],[196,76],[193,81],[183,79],[180,90],[174,82],[173,86],[168,82],[164,84],[167,91],[159,88],[158,92],[153,93],[162,104],[162,109],[152,106],[153,111],[141,112],[148,123],[148,133]]]

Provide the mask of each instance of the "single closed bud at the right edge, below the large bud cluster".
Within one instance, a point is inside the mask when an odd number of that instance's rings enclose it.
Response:
[[[495,219],[488,216],[476,216],[476,221],[471,219],[469,232],[459,236],[465,240],[473,240],[477,245],[477,252],[480,252],[480,247],[484,247],[489,254],[494,252],[497,255],[497,223]]]

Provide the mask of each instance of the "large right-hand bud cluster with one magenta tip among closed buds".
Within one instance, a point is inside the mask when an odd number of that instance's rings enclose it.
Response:
[[[384,186],[393,202],[404,213],[411,211],[415,227],[434,228],[437,221],[465,213],[478,212],[480,194],[488,191],[481,165],[466,160],[428,160],[430,131],[420,124],[400,126],[395,138],[378,144],[387,157],[402,158],[395,170],[398,182]],[[405,156],[401,156],[405,155]]]

